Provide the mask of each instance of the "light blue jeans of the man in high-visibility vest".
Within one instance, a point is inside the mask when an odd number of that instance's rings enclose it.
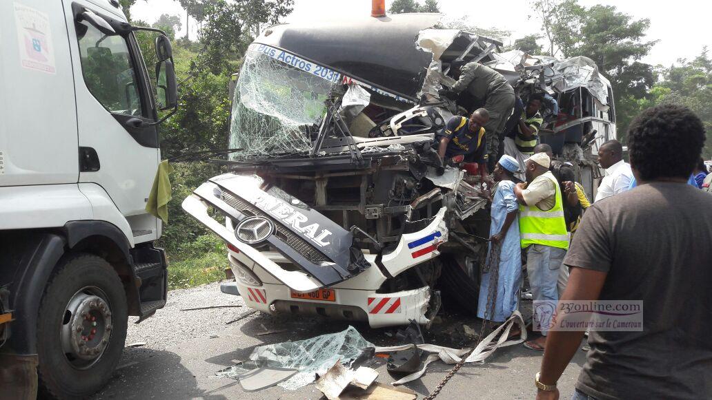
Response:
[[[532,244],[527,248],[527,274],[533,300],[554,302],[559,300],[556,285],[559,280],[561,262],[565,255],[565,249],[543,244]],[[534,320],[535,324],[540,323],[541,334],[546,336],[548,324],[542,321],[550,318],[550,315],[544,315],[542,310],[542,308],[535,308]]]

